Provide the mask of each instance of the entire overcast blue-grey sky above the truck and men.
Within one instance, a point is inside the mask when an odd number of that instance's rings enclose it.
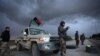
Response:
[[[76,30],[86,36],[100,32],[100,0],[0,0],[0,32],[10,26],[11,34],[19,35],[35,16],[44,23],[41,28],[55,35],[62,20],[70,36]]]

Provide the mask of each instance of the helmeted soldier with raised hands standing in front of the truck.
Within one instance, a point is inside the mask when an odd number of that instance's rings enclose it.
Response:
[[[58,27],[58,35],[60,38],[60,51],[61,51],[61,56],[65,56],[66,54],[66,41],[65,41],[65,37],[66,37],[66,32],[69,29],[69,27],[64,28],[65,26],[65,22],[61,21],[60,25]]]

